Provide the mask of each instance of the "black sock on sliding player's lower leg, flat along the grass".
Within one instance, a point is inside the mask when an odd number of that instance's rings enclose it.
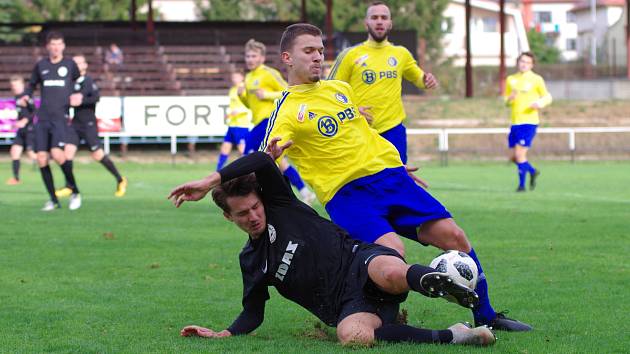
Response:
[[[403,324],[387,324],[374,330],[374,338],[386,342],[450,343],[453,332],[436,331]]]

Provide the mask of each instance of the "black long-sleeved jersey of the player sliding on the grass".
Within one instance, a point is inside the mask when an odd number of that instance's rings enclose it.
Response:
[[[221,181],[251,172],[262,189],[267,230],[258,239],[250,237],[240,254],[243,312],[228,330],[249,333],[262,323],[268,286],[335,326],[350,264],[365,244],[302,203],[263,152],[226,166]]]

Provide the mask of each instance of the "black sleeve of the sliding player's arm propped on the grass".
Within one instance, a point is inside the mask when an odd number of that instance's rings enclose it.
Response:
[[[251,155],[250,155],[251,156]],[[258,328],[265,319],[265,303],[269,300],[264,278],[256,277],[241,255],[241,272],[243,274],[243,310],[228,327],[232,335],[247,334]]]

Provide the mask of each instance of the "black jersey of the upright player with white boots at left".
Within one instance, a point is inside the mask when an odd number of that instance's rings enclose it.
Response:
[[[68,58],[63,58],[56,64],[45,58],[35,64],[25,93],[33,97],[37,85],[41,86],[41,105],[37,112],[39,120],[65,119],[70,108],[74,82],[80,75],[77,64]]]

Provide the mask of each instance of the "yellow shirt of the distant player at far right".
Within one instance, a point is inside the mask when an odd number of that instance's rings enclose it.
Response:
[[[516,96],[510,99],[513,93]],[[531,108],[531,105],[538,102],[540,108],[543,108],[551,104],[552,100],[545,86],[545,80],[531,70],[508,76],[503,97],[512,109],[512,125],[539,124],[538,110]]]

